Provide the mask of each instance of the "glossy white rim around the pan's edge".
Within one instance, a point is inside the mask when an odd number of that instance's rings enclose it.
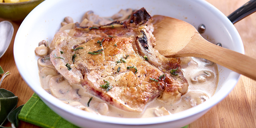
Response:
[[[100,122],[100,123],[110,123],[110,124],[147,125],[147,124],[166,123],[166,122],[170,122],[170,121],[184,119],[184,118],[187,118],[189,116],[196,115],[196,114],[198,114],[200,112],[203,112],[203,111],[208,111],[214,105],[216,105],[221,100],[223,100],[229,94],[229,92],[232,91],[232,89],[235,87],[237,81],[239,80],[240,74],[233,73],[232,74],[232,79],[226,81],[228,83],[230,82],[231,83],[230,85],[233,85],[233,86],[228,87],[227,90],[225,90],[225,91],[217,92],[218,95],[220,95],[219,97],[221,97],[221,98],[215,98],[216,95],[214,95],[214,96],[212,96],[212,98],[210,98],[209,100],[205,101],[202,104],[197,105],[195,108],[190,108],[188,110],[178,112],[178,113],[168,115],[168,116],[151,117],[150,119],[152,119],[152,120],[148,120],[149,118],[120,118],[120,117],[112,117],[112,116],[96,116],[96,114],[93,114],[93,113],[85,112],[85,111],[82,111],[82,110],[71,109],[72,106],[61,102],[60,100],[58,100],[55,97],[53,98],[53,96],[48,94],[46,91],[40,91],[43,88],[39,88],[37,86],[31,86],[31,85],[33,85],[33,83],[28,78],[25,77],[24,72],[21,72],[22,71],[22,66],[18,64],[19,62],[22,62],[22,60],[20,60],[17,57],[19,53],[16,52],[16,50],[18,48],[18,43],[16,42],[16,40],[18,40],[20,38],[21,29],[25,27],[26,20],[31,18],[33,13],[36,12],[36,10],[43,9],[44,5],[50,3],[50,1],[52,1],[52,0],[43,1],[39,6],[37,6],[25,18],[24,22],[20,25],[20,28],[19,28],[19,30],[16,34],[17,36],[15,38],[15,43],[14,43],[14,49],[13,49],[14,59],[15,59],[15,62],[16,62],[16,66],[17,66],[17,68],[20,72],[20,75],[22,76],[24,81],[30,86],[30,88],[32,88],[32,90],[35,91],[37,93],[37,95],[40,96],[40,98],[43,101],[45,100],[45,101],[49,102],[54,107],[56,107],[58,109],[61,109],[62,111],[65,111],[66,113],[68,113],[70,115],[75,115],[75,116],[78,116],[78,117],[86,119],[86,120],[92,120],[92,121],[96,121],[96,122]],[[55,2],[58,2],[58,1],[61,1],[61,0],[54,0],[54,2],[52,1],[52,3],[55,3]],[[240,39],[239,42],[241,42],[241,44],[240,44],[241,53],[244,54],[244,46],[242,44],[242,40],[241,40],[240,35],[237,32],[235,26],[231,23],[231,21],[228,20],[228,18],[222,12],[220,12],[220,10],[218,10],[212,4],[209,4],[207,1],[204,1],[204,0],[194,0],[194,1],[197,2],[197,3],[202,4],[202,6],[204,6],[206,8],[209,8],[209,10],[211,12],[215,12],[216,15],[219,15],[221,21],[223,21],[224,24],[229,24],[229,27],[231,27],[233,29],[233,31],[236,33],[236,36],[238,36],[238,38]],[[46,100],[46,99],[51,99],[51,100]],[[201,109],[199,110],[198,108],[201,108]],[[175,118],[173,116],[175,116]],[[106,118],[106,117],[108,118],[108,120],[104,120],[104,118]]]

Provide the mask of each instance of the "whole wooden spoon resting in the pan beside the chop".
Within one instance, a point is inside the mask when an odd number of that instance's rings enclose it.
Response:
[[[205,40],[191,24],[167,16],[153,16],[154,47],[165,57],[200,57],[256,80],[256,59]]]

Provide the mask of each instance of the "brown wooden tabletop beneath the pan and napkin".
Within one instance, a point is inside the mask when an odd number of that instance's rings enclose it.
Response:
[[[226,16],[248,0],[206,0]],[[2,21],[4,19],[0,19]],[[0,58],[0,66],[11,74],[1,85],[19,97],[18,106],[25,104],[34,93],[22,80],[14,62],[13,43],[20,24],[13,23],[14,36],[8,51]],[[245,49],[245,55],[256,59],[256,13],[235,24]],[[243,63],[243,62],[241,62]],[[11,126],[5,124],[5,126]],[[19,128],[38,128],[20,121]],[[241,76],[232,92],[204,116],[189,125],[189,128],[256,128],[256,81]]]

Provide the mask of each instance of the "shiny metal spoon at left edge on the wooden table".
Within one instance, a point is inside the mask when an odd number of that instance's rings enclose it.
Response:
[[[0,58],[4,55],[11,43],[13,31],[14,29],[11,22],[0,22]]]

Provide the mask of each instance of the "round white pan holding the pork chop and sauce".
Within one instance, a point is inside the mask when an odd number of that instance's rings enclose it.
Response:
[[[224,99],[234,88],[239,74],[218,65],[219,83],[216,93],[208,101],[183,112],[153,118],[106,117],[75,109],[56,99],[40,86],[35,48],[41,40],[51,41],[64,17],[80,22],[89,10],[100,16],[112,16],[120,9],[146,8],[153,15],[164,15],[184,20],[196,28],[206,26],[202,35],[224,48],[244,54],[240,35],[222,12],[204,0],[45,0],[23,21],[16,34],[14,57],[20,75],[54,112],[73,124],[86,128],[179,128],[204,115]]]

